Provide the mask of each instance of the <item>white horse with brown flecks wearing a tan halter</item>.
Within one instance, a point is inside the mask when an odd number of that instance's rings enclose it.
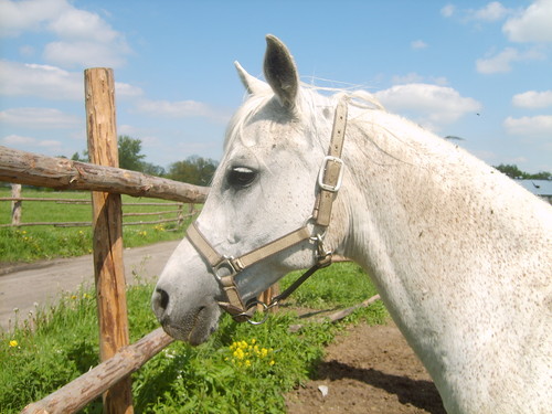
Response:
[[[371,276],[447,412],[550,413],[550,205],[368,93],[328,97],[300,84],[274,36],[267,83],[236,67],[248,98],[153,294],[166,331],[200,343],[221,306],[247,318],[261,291],[335,252]],[[328,157],[339,132],[342,153]]]

